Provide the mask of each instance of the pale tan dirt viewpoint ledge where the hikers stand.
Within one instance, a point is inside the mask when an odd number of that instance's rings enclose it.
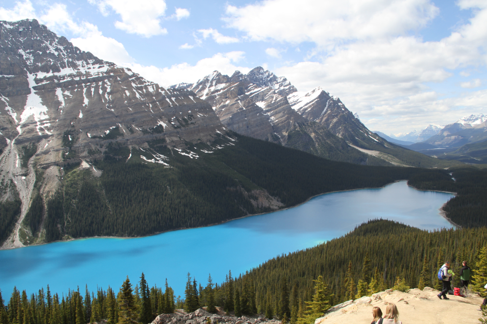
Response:
[[[369,324],[372,322],[372,307],[378,306],[386,313],[386,305],[395,303],[399,320],[404,324],[458,324],[479,323],[483,298],[477,295],[464,298],[449,295],[450,300],[438,299],[439,292],[429,287],[424,291],[411,289],[408,293],[388,289],[372,295],[334,306],[315,324]]]

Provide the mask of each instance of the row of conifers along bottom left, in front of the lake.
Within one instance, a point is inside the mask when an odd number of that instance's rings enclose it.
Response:
[[[0,291],[0,324],[107,324],[151,323],[158,314],[173,313],[174,291],[168,286],[149,288],[144,273],[135,289],[128,277],[118,293],[111,287],[98,288],[96,293],[69,290],[64,296],[52,295],[49,286],[27,295],[14,288],[9,301],[4,304]]]

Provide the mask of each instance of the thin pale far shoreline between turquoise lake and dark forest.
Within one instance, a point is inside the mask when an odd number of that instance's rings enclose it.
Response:
[[[40,245],[45,245],[45,244],[50,244],[50,243],[71,242],[71,241],[87,240],[87,239],[124,239],[125,240],[125,239],[140,239],[140,238],[146,238],[146,237],[151,237],[151,236],[155,236],[155,235],[159,235],[159,234],[163,234],[163,233],[169,233],[169,232],[181,231],[181,230],[187,230],[187,229],[196,229],[196,228],[210,227],[210,226],[224,224],[224,223],[227,223],[227,222],[230,222],[230,221],[233,221],[233,220],[237,220],[237,219],[243,219],[243,218],[246,218],[246,217],[259,216],[259,215],[272,214],[272,213],[275,213],[275,212],[285,211],[285,210],[288,210],[288,209],[292,209],[292,208],[295,208],[295,207],[304,205],[305,203],[307,203],[308,201],[310,201],[311,199],[313,199],[315,197],[322,196],[322,195],[329,194],[329,193],[346,192],[346,191],[354,191],[354,190],[364,190],[364,189],[383,189],[386,186],[395,184],[397,182],[402,182],[402,181],[406,181],[407,182],[406,179],[403,179],[403,180],[396,180],[396,181],[390,182],[388,184],[385,184],[382,187],[367,187],[367,188],[356,188],[356,189],[346,189],[346,190],[336,190],[336,191],[323,192],[323,193],[319,193],[319,194],[316,194],[314,196],[311,196],[308,199],[306,199],[304,202],[302,202],[300,204],[297,204],[297,205],[294,205],[294,206],[291,206],[291,207],[287,207],[287,208],[283,208],[283,209],[278,209],[278,210],[275,210],[275,211],[272,211],[272,212],[267,212],[267,213],[259,213],[259,214],[245,215],[245,216],[242,216],[242,217],[232,218],[232,219],[228,219],[228,220],[224,220],[224,221],[221,221],[221,222],[218,222],[218,223],[208,224],[208,225],[204,225],[204,226],[198,226],[198,227],[181,227],[181,228],[175,228],[175,229],[171,229],[171,230],[167,230],[167,231],[162,231],[162,232],[157,232],[157,233],[153,233],[153,234],[149,234],[149,235],[144,235],[144,236],[88,236],[88,237],[82,237],[82,238],[72,238],[72,239],[69,239],[69,240],[60,240],[60,241],[53,241],[53,242],[46,242],[46,243],[39,243],[39,244],[30,244],[30,245],[25,245],[25,246],[20,246],[20,247],[0,248],[0,250],[12,250],[12,249],[29,247],[29,246],[40,246]],[[418,189],[418,188],[416,188],[414,186],[410,186],[407,183],[406,183],[406,185],[408,187],[411,187],[411,188],[413,188],[415,190],[418,190],[418,191],[444,192],[444,193],[451,193],[451,194],[457,195],[456,192],[441,191],[441,190],[422,190],[422,189]],[[440,214],[440,216],[442,216],[443,218],[445,218],[453,226],[456,226],[458,228],[461,228],[461,226],[455,224],[450,218],[448,218],[446,216],[446,212],[443,210],[443,207],[445,207],[445,205],[446,205],[446,203],[444,203],[439,208],[439,211],[440,211],[439,214]]]

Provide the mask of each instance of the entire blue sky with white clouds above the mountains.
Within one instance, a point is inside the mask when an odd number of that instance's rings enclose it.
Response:
[[[263,66],[386,134],[487,114],[486,0],[17,0],[75,46],[168,86]]]

